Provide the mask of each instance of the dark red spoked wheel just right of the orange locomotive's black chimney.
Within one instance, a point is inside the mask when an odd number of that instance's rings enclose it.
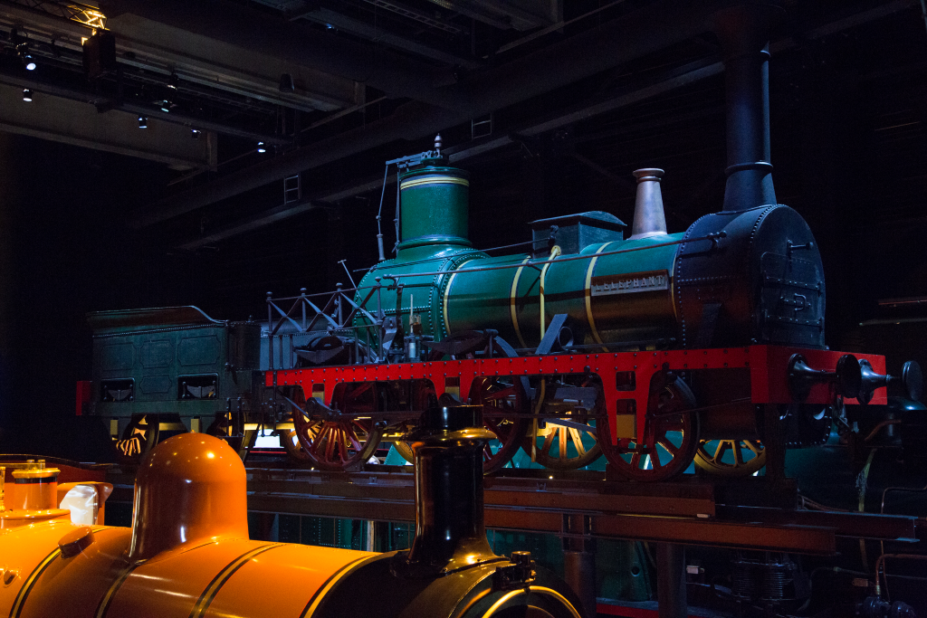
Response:
[[[477,378],[470,389],[470,404],[483,406],[483,425],[496,435],[483,449],[483,473],[494,473],[521,448],[530,421],[527,395],[516,376]]]

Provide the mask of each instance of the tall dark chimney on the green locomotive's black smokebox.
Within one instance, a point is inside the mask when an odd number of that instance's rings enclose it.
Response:
[[[715,15],[724,50],[728,130],[725,210],[776,203],[769,152],[769,29],[781,6],[744,0]]]

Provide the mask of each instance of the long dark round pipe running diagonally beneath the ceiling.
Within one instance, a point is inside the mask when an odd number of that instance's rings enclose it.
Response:
[[[457,104],[442,108],[413,103],[386,119],[312,145],[284,157],[230,174],[160,200],[135,217],[144,227],[244,193],[303,170],[349,157],[401,139],[434,135],[455,124],[589,77],[634,58],[692,39],[709,28],[709,19],[730,0],[657,0],[625,17],[613,19],[560,44],[474,77],[451,89]]]

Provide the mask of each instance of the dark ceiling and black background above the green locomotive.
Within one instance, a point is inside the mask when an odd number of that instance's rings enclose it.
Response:
[[[471,172],[476,246],[579,210],[629,221],[642,167],[667,170],[670,231],[685,229],[723,194],[708,25],[727,4],[0,0],[0,377],[34,393],[52,374],[60,408],[89,367],[85,311],[245,318],[267,291],[331,289],[348,276],[338,260],[375,260],[384,161],[436,132]],[[885,299],[927,296],[927,29],[917,0],[784,6],[773,176],[819,240],[841,345],[900,315]],[[104,23],[118,68],[88,80],[81,39]],[[386,195],[390,212],[395,184]]]

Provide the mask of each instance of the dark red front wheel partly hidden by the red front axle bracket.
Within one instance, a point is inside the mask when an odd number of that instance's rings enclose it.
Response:
[[[664,382],[655,376],[643,439],[618,438],[612,444],[609,424],[604,419],[598,424],[605,459],[633,481],[665,481],[685,472],[699,444],[698,415],[685,411],[694,407],[695,397],[681,379]]]

